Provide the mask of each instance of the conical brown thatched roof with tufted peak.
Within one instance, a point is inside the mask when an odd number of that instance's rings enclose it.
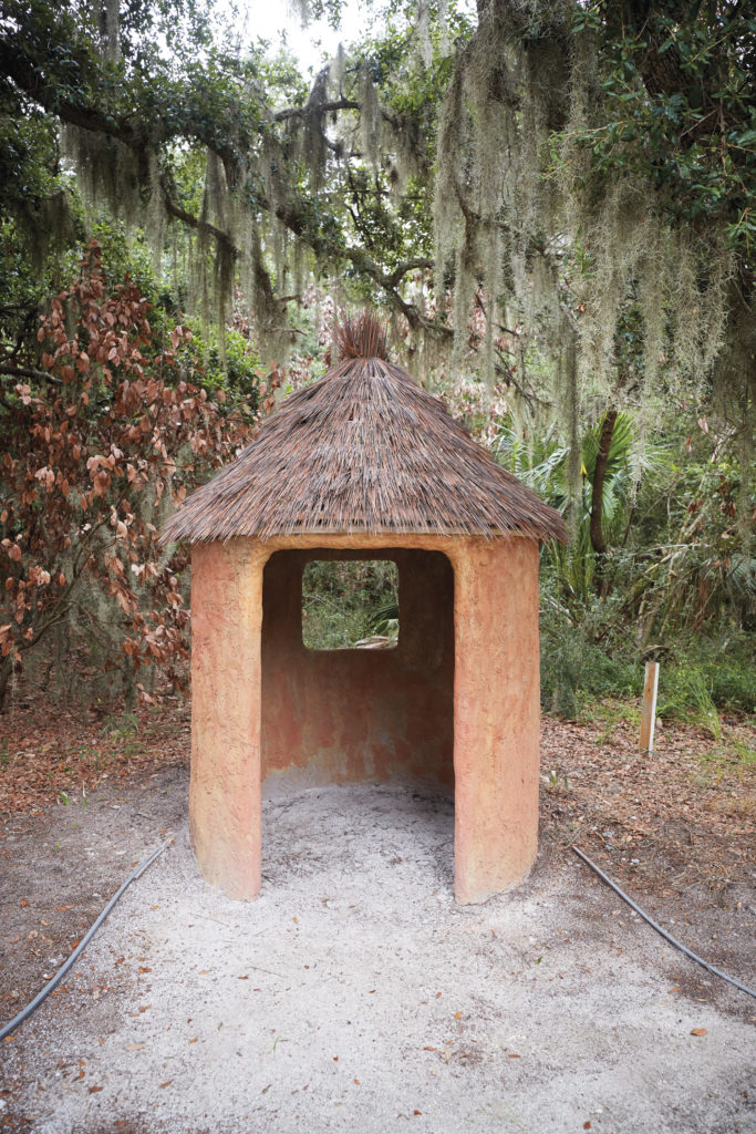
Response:
[[[356,532],[564,539],[559,513],[388,361],[377,320],[346,323],[337,341],[337,365],[281,403],[185,501],[164,542]]]

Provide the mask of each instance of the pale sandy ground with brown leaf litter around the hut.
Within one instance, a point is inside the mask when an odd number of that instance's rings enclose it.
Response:
[[[0,1129],[623,1134],[756,1129],[753,733],[544,718],[538,863],[451,891],[428,785],[269,785],[263,891],[226,899],[187,833],[188,708],[0,718],[0,1021],[154,847],[62,985],[0,1046]],[[727,723],[727,722],[725,722]],[[172,840],[172,841],[170,841]]]

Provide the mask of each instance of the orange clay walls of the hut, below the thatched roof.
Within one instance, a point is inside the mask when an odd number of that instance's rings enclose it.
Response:
[[[261,827],[260,785],[265,769],[300,767],[312,752],[326,776],[359,779],[390,773],[408,753],[405,771],[427,772],[428,763],[443,775],[443,756],[431,758],[433,745],[423,735],[423,711],[404,706],[413,688],[419,691],[428,712],[436,693],[428,689],[431,674],[413,663],[391,674],[384,666],[380,696],[390,721],[404,725],[410,735],[381,735],[377,716],[356,721],[364,709],[367,682],[381,672],[375,654],[364,655],[339,678],[324,677],[323,654],[309,668],[304,648],[290,652],[294,626],[299,634],[296,573],[301,552],[333,550],[402,549],[443,552],[453,568],[455,655],[443,646],[440,672],[453,665],[453,772],[455,772],[455,894],[461,903],[483,902],[492,894],[516,886],[535,860],[538,794],[538,595],[537,545],[525,539],[402,536],[296,536],[261,543],[232,540],[227,545],[199,544],[193,550],[193,731],[189,820],[192,840],[204,877],[231,897],[254,898],[260,890]],[[267,572],[270,595],[263,628],[265,564],[277,551],[296,551]],[[318,552],[320,555],[320,552]],[[410,557],[407,557],[407,562]],[[430,562],[430,560],[428,560]],[[283,564],[283,567],[280,567]],[[296,567],[296,573],[295,573]],[[419,573],[405,577],[421,587]],[[281,612],[287,631],[273,628],[272,615]],[[433,603],[419,603],[422,626]],[[443,616],[442,616],[443,617]],[[406,621],[406,617],[405,617]],[[410,616],[410,627],[411,627]],[[428,625],[425,623],[426,631]],[[430,633],[430,632],[428,632]],[[264,644],[263,644],[264,641]],[[287,645],[288,641],[288,645]],[[419,660],[424,638],[410,628],[409,655]],[[440,640],[444,636],[441,633]],[[414,651],[417,650],[417,654]],[[383,654],[385,658],[387,654]],[[309,712],[269,708],[286,693],[288,658],[299,695]],[[341,662],[337,662],[337,667]],[[399,659],[393,659],[399,665]],[[263,667],[272,667],[263,674]],[[365,667],[364,669],[362,667]],[[338,671],[337,671],[338,672]],[[399,674],[399,676],[398,676]],[[351,676],[350,676],[351,675]],[[305,679],[306,678],[306,679]],[[351,684],[349,684],[349,682]],[[272,684],[271,684],[272,683]],[[320,684],[318,684],[320,683]],[[355,705],[348,689],[358,692]],[[263,699],[263,689],[265,697]],[[443,686],[442,686],[443,689]],[[324,708],[314,708],[318,691]],[[443,700],[443,692],[441,693]],[[362,700],[360,700],[362,699]],[[264,704],[265,702],[265,704]],[[341,716],[341,720],[338,717]],[[351,722],[350,722],[351,718]],[[286,721],[294,725],[278,736]],[[427,736],[448,745],[447,726],[425,720]],[[355,739],[362,744],[355,751]],[[339,753],[341,743],[350,751]],[[408,747],[407,747],[408,746]],[[417,751],[416,750],[417,747]],[[291,748],[291,751],[289,751]],[[372,764],[372,767],[371,767]]]

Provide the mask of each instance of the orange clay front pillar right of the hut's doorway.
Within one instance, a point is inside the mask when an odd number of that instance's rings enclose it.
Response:
[[[455,568],[455,895],[524,880],[538,836],[538,547],[469,539]]]

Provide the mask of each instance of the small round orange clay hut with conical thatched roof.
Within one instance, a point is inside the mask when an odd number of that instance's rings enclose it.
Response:
[[[267,775],[434,776],[457,900],[483,902],[536,855],[538,541],[562,521],[388,359],[372,315],[337,344],[163,533],[192,544],[194,850],[250,899]],[[398,567],[397,648],[307,649],[305,565],[356,558]]]

